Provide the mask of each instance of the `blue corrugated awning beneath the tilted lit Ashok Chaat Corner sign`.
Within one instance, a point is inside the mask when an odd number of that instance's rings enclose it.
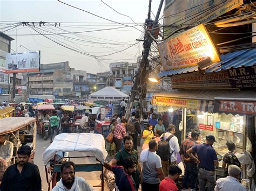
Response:
[[[241,51],[220,54],[220,62],[213,63],[206,73],[219,72],[221,69],[239,68],[242,66],[253,66],[256,63],[256,48],[243,49]],[[158,76],[171,76],[198,71],[198,66],[171,69],[158,74]]]

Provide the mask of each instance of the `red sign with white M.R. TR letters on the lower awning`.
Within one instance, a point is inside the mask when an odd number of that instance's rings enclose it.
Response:
[[[225,112],[227,114],[256,115],[256,102],[253,101],[214,101],[214,112]]]

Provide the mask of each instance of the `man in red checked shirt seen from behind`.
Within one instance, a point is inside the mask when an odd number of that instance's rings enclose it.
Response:
[[[114,126],[113,130],[113,142],[116,144],[117,151],[121,149],[121,143],[123,137],[127,135],[126,133],[126,125],[127,125],[127,119],[123,119],[122,123],[117,123]]]

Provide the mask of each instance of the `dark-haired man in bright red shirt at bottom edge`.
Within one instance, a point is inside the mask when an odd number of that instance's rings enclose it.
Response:
[[[168,176],[160,182],[159,191],[178,191],[175,181],[179,179],[182,173],[178,165],[171,165],[169,167]]]

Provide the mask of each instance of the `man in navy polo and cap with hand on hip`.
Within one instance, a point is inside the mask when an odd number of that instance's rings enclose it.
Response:
[[[204,191],[206,185],[208,191],[214,190],[215,167],[219,166],[217,154],[212,147],[214,142],[216,142],[215,137],[213,135],[207,135],[205,143],[194,145],[187,150],[187,155],[199,164],[198,179],[200,191]],[[193,152],[197,153],[198,158],[193,155]]]

